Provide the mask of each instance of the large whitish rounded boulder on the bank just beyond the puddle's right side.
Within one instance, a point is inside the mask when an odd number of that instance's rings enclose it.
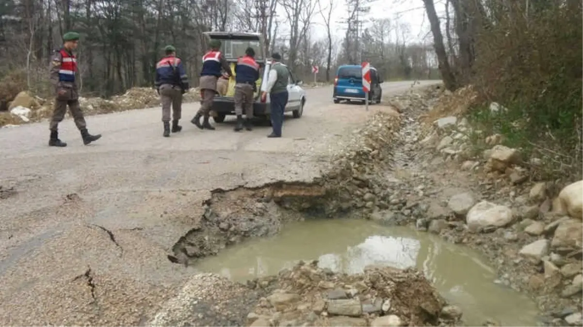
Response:
[[[466,223],[472,229],[489,226],[504,227],[513,219],[512,209],[488,201],[474,205],[466,215]]]

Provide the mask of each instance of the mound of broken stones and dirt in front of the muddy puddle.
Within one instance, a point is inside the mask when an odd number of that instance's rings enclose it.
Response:
[[[462,326],[462,312],[448,305],[416,269],[367,267],[346,275],[300,262],[278,276],[255,280],[275,285],[247,317],[251,327]]]

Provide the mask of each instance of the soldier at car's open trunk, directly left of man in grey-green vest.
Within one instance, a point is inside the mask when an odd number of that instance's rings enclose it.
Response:
[[[245,128],[252,130],[251,118],[253,118],[253,94],[257,91],[259,79],[259,64],[255,61],[255,50],[247,48],[245,56],[237,61],[235,66],[235,113],[237,114],[237,126],[235,131],[243,129],[243,108],[245,109]]]

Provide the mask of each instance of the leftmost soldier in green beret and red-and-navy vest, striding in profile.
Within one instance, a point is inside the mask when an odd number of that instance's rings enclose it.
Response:
[[[55,107],[50,123],[51,138],[48,145],[51,147],[66,147],[67,144],[59,140],[58,125],[65,118],[67,106],[71,111],[71,116],[75,120],[75,125],[81,132],[83,144],[87,145],[93,141],[99,140],[101,134],[92,135],[87,131],[85,118],[79,106],[79,93],[77,84],[75,83],[75,75],[77,73],[77,59],[73,55],[73,50],[77,48],[79,41],[79,33],[68,32],[63,35],[63,47],[56,50],[52,55],[52,67],[50,72],[50,80],[52,86],[55,88],[56,98]]]

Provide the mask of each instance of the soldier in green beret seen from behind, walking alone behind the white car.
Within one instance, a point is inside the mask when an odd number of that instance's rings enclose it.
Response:
[[[167,45],[164,48],[166,56],[156,64],[156,90],[162,101],[162,123],[164,137],[170,136],[170,106],[172,106],[172,133],[182,130],[178,120],[182,117],[182,94],[189,89],[188,76],[180,58],[176,56],[176,48]]]

